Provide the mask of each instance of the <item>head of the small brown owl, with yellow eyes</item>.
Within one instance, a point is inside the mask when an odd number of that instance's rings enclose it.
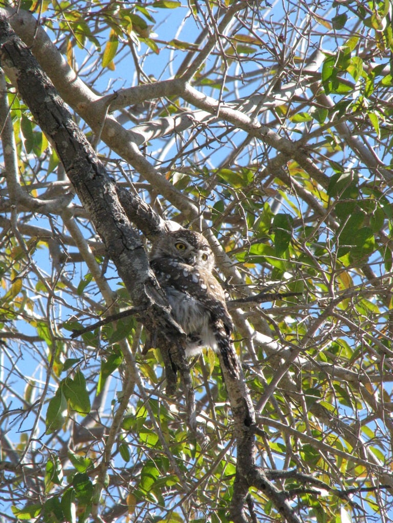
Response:
[[[152,260],[163,256],[194,267],[209,270],[214,267],[214,254],[204,236],[188,229],[167,232],[152,246]]]

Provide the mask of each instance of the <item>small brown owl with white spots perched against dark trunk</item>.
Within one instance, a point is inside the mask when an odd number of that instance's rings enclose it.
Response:
[[[239,377],[232,346],[233,324],[222,287],[214,277],[215,258],[203,235],[170,231],[152,245],[150,265],[167,295],[175,321],[186,333],[186,356],[211,347],[224,366]]]

